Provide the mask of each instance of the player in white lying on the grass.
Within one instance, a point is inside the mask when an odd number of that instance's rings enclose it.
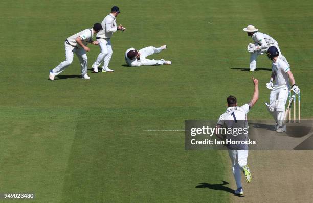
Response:
[[[140,50],[136,50],[135,48],[129,48],[125,52],[125,61],[129,66],[171,65],[171,61],[166,61],[164,59],[147,59],[148,56],[152,54],[158,54],[164,49],[166,49],[166,45],[163,45],[159,48],[155,48],[154,46],[148,46]]]

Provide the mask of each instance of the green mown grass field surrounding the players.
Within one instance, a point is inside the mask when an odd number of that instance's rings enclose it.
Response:
[[[49,81],[65,58],[64,39],[101,22],[113,5],[127,28],[111,39],[115,72],[89,70],[91,80],[81,80],[74,56],[60,80]],[[217,120],[230,94],[239,105],[249,101],[252,73],[240,70],[249,67],[247,24],[278,41],[302,92],[302,117],[312,118],[312,5],[2,1],[0,193],[35,192],[34,202],[228,202],[228,192],[196,188],[232,179],[225,151],[185,151],[182,131],[147,130]],[[171,66],[123,66],[126,49],[163,44],[168,48],[153,58]],[[89,47],[91,67],[99,47]],[[271,61],[260,56],[257,65],[269,69]],[[253,75],[260,99],[249,116],[271,118],[264,106],[271,71]]]

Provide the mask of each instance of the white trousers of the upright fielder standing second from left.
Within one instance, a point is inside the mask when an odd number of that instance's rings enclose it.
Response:
[[[103,62],[102,69],[104,70],[108,68],[108,64],[113,54],[111,40],[100,38],[100,39],[97,39],[97,41],[99,42],[100,54],[98,55],[94,63],[94,66],[98,68]]]

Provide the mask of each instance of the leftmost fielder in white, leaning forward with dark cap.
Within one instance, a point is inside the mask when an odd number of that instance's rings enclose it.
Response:
[[[90,51],[90,48],[87,47],[88,43],[98,45],[99,42],[93,41],[93,36],[95,33],[98,33],[102,29],[100,23],[94,24],[94,27],[91,29],[85,29],[71,37],[68,37],[65,42],[65,61],[60,63],[53,70],[50,70],[49,78],[54,80],[55,75],[60,74],[66,67],[71,65],[73,62],[74,53],[77,55],[80,65],[81,65],[81,75],[82,79],[90,79],[87,75],[87,54],[86,52]]]

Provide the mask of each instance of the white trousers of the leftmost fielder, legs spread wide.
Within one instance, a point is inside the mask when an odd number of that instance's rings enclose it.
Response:
[[[81,66],[81,75],[84,75],[87,73],[87,54],[85,49],[83,48],[76,48],[73,47],[69,44],[66,44],[66,42],[64,42],[65,45],[65,61],[61,62],[57,67],[55,67],[52,72],[54,75],[58,75],[60,74],[62,71],[65,70],[66,67],[68,67],[69,65],[71,65],[71,63],[73,62],[73,58],[74,58],[74,53],[76,54],[76,56],[79,59],[80,62],[80,66]]]

